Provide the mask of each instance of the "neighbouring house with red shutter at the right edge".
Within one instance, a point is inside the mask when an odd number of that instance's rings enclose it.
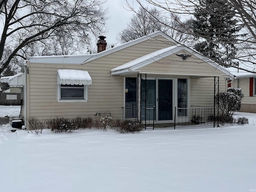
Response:
[[[250,61],[234,61],[234,64],[239,65],[240,68],[256,72],[255,65]],[[234,67],[226,68],[226,70],[234,76],[234,80],[230,82],[229,87],[242,89],[240,112],[256,113],[256,73],[251,73]]]

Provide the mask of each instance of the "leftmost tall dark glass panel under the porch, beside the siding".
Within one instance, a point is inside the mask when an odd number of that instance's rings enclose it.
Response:
[[[137,117],[137,78],[125,78],[125,118]]]

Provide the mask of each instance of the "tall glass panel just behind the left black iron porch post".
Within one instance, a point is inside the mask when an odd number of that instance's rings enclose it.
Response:
[[[146,85],[147,84],[147,85]],[[156,80],[142,80],[141,85],[141,114],[145,120],[145,108],[156,106]],[[153,120],[154,110],[146,110],[146,120]],[[154,118],[156,117],[156,113]]]

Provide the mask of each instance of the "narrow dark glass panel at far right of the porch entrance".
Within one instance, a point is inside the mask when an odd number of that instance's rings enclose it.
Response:
[[[187,80],[178,79],[178,108],[187,108]],[[178,116],[187,116],[186,109],[179,109]]]

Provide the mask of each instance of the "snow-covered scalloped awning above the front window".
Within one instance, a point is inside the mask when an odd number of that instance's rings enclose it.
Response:
[[[87,71],[74,70],[74,69],[59,69],[58,84],[91,85],[92,78]]]

